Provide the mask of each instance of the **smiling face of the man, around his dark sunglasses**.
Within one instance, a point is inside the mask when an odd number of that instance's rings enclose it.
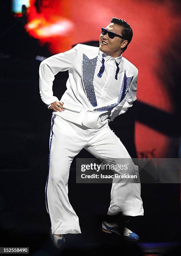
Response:
[[[110,23],[106,29],[112,31],[120,36],[122,36],[122,27],[120,25]],[[100,34],[99,38],[99,49],[105,54],[116,58],[121,55],[121,49],[127,45],[128,41],[123,40],[122,38],[115,36],[114,38],[109,38],[108,34],[103,36]]]

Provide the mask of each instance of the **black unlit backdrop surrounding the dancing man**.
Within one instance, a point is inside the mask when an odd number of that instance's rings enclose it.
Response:
[[[48,57],[51,54],[46,45],[41,47],[25,32],[23,18],[13,18],[10,1],[3,1],[0,18],[0,229],[4,234],[0,246],[13,246],[13,241],[18,241],[16,246],[28,246],[31,241],[38,248],[38,239],[41,236],[42,244],[46,243],[50,230],[44,191],[48,174],[51,111],[39,96],[40,61],[35,56]],[[175,79],[179,79],[178,70],[173,67],[172,72]],[[55,95],[64,93],[67,78],[68,72],[56,75]],[[133,158],[137,157],[135,120],[148,123],[173,138],[181,135],[180,98],[176,97],[176,100],[178,108],[175,115],[164,116],[162,112],[136,101],[133,108],[110,123]],[[151,122],[144,111],[158,115],[162,122]],[[77,157],[92,156],[83,150]],[[175,151],[172,157],[178,157],[178,152]],[[76,159],[70,170],[69,199],[79,216],[82,234],[77,235],[78,238],[67,235],[67,239],[78,239],[82,244],[109,241],[110,236],[102,234],[100,216],[107,213],[111,184],[76,184],[75,162]],[[144,217],[138,216],[130,221],[131,229],[140,236],[140,242],[180,241],[180,184],[142,184],[142,199]],[[10,238],[10,244],[5,237]]]

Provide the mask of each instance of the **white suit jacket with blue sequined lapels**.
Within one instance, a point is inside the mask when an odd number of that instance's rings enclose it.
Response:
[[[120,93],[107,105],[97,105],[94,93],[94,72],[96,65],[102,65],[98,58],[99,47],[77,44],[64,53],[53,55],[40,64],[39,87],[43,102],[49,104],[59,100],[53,95],[54,76],[60,71],[69,71],[67,90],[60,101],[64,111],[54,111],[66,120],[98,129],[110,120],[127,111],[136,100],[138,69],[122,57],[119,79]]]

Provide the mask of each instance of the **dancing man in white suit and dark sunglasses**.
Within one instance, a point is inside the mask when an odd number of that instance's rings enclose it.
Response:
[[[74,157],[85,148],[109,163],[131,159],[108,123],[123,114],[136,100],[138,69],[122,57],[133,37],[125,20],[112,18],[102,28],[99,48],[77,44],[73,49],[45,59],[40,64],[40,95],[51,110],[49,172],[46,182],[46,209],[51,220],[51,237],[57,247],[63,234],[81,233],[79,218],[68,198],[69,169]],[[54,76],[69,71],[67,90],[59,100],[53,96]],[[131,160],[132,161],[132,160]],[[132,172],[138,166],[132,161]],[[137,180],[138,181],[138,180]],[[114,182],[114,180],[113,180]],[[140,183],[112,183],[108,215],[143,215]],[[115,223],[102,223],[102,230],[118,233]],[[139,237],[125,228],[130,240]]]

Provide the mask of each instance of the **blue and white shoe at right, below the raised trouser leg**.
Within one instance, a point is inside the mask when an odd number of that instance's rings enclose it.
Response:
[[[120,230],[118,228],[118,225],[116,223],[108,223],[106,221],[102,222],[102,231],[104,231],[105,233],[116,233],[117,235],[121,236],[120,234]],[[134,233],[133,231],[131,231],[128,228],[124,228],[124,238],[128,241],[137,241],[139,240],[139,236]]]

